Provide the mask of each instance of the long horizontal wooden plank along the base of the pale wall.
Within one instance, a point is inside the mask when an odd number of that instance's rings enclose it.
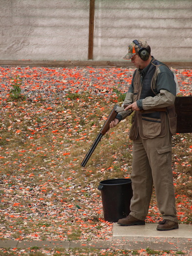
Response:
[[[192,68],[192,62],[165,62],[169,67]],[[102,60],[0,60],[0,66],[97,66],[97,67],[134,67],[131,61],[102,61]],[[135,67],[134,67],[135,68]]]

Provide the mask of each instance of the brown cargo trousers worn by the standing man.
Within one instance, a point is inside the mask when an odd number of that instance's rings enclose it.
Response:
[[[167,124],[168,125],[168,124]],[[172,172],[172,135],[169,125],[166,136],[133,140],[133,165],[130,215],[145,220],[153,193],[163,219],[178,222]]]

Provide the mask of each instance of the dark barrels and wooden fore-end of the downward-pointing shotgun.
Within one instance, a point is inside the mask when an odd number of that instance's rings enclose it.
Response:
[[[106,134],[106,132],[109,130],[109,125],[111,123],[111,121],[113,121],[117,115],[116,112],[116,108],[117,108],[117,104],[114,106],[114,108],[112,109],[111,113],[109,114],[107,120],[105,121],[103,127],[101,128],[99,134],[97,135],[96,139],[94,140],[90,150],[87,152],[85,158],[83,159],[81,166],[85,167],[86,163],[88,162],[89,158],[91,157],[91,155],[93,154],[94,150],[96,149],[96,146],[98,145],[99,141],[101,140],[101,138]]]

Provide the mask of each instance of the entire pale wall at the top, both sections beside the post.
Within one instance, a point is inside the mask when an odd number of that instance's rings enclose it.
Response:
[[[89,0],[0,0],[0,59],[87,60]],[[94,60],[145,38],[162,61],[192,61],[192,0],[95,0]]]

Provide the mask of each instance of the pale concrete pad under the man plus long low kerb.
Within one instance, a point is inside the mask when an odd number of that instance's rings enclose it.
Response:
[[[118,248],[123,250],[138,250],[150,248],[153,250],[192,250],[192,225],[179,225],[172,231],[157,231],[156,224],[145,226],[122,227],[114,223],[113,238],[97,241],[17,241],[0,240],[0,248]]]

